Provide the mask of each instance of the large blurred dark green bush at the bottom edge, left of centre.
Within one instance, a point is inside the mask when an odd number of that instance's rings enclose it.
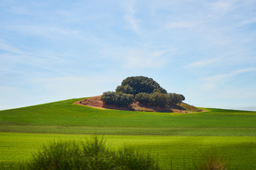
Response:
[[[105,142],[95,137],[91,142],[55,142],[43,147],[28,163],[29,170],[63,169],[159,169],[149,154],[140,154],[134,149],[120,149],[118,152],[105,147]]]

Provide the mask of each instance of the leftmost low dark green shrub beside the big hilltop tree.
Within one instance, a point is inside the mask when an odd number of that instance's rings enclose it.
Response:
[[[123,94],[112,91],[104,92],[102,94],[101,100],[103,101],[103,103],[119,107],[126,107],[134,102],[134,98],[131,94]]]

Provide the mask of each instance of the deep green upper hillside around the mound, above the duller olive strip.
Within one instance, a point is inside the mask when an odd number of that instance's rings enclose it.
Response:
[[[255,128],[256,112],[206,108],[203,113],[146,113],[90,108],[80,98],[0,111],[1,125],[82,125],[136,128]]]

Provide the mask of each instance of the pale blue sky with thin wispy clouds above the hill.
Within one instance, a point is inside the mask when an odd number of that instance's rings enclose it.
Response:
[[[256,111],[256,1],[0,1],[0,110],[146,76],[193,106]]]

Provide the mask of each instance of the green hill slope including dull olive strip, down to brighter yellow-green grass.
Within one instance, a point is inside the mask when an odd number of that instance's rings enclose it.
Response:
[[[201,113],[102,110],[74,104],[81,99],[0,111],[0,131],[116,135],[256,134],[256,112],[252,111],[216,108],[203,108],[207,111]]]

